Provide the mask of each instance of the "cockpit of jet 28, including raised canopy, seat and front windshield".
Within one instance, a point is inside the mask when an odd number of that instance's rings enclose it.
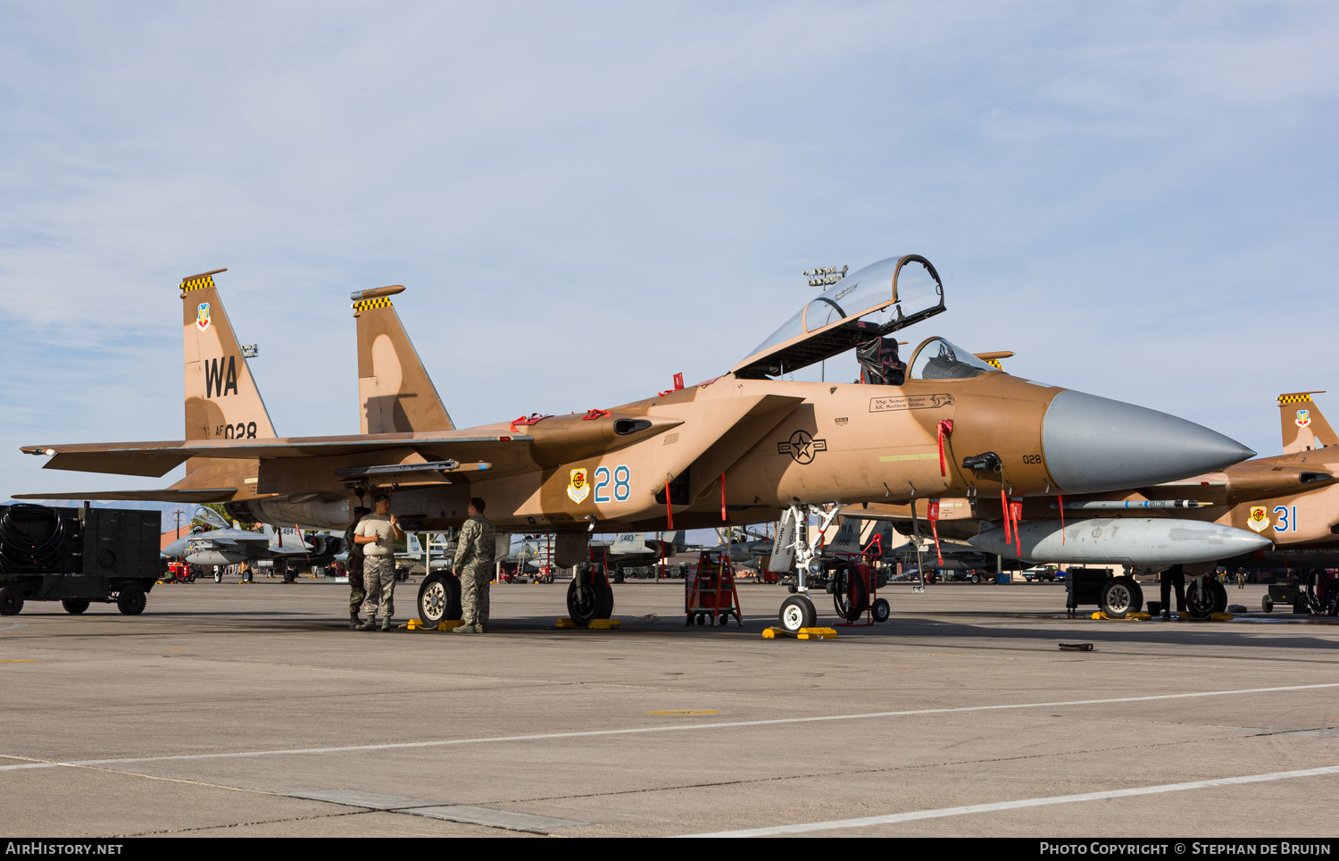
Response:
[[[921,344],[911,367],[890,335],[943,313],[944,285],[920,254],[888,257],[858,269],[811,297],[731,371],[750,379],[775,378],[854,349],[860,380],[901,386],[912,379],[969,379],[994,371],[941,337]]]

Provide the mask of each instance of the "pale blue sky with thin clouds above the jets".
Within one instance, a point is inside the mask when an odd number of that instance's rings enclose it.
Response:
[[[17,449],[181,438],[221,266],[281,435],[358,431],[352,291],[407,287],[463,427],[716,376],[802,270],[920,253],[912,344],[1276,454],[1339,390],[1336,72],[1327,3],[0,0],[0,495],[179,477]]]

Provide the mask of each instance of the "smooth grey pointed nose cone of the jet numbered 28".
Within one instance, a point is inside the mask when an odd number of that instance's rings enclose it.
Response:
[[[1047,407],[1042,451],[1065,493],[1146,487],[1255,457],[1194,422],[1073,390]]]

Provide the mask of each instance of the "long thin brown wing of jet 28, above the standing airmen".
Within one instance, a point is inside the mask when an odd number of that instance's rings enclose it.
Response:
[[[165,442],[108,442],[68,446],[23,446],[25,454],[44,454],[44,469],[121,475],[167,474],[189,458],[313,458],[370,454],[387,449],[414,449],[428,461],[487,462],[505,467],[530,465],[528,434],[370,434],[343,437],[289,437],[274,439],[193,439]],[[83,498],[83,497],[79,497]],[[230,497],[229,497],[230,498]]]

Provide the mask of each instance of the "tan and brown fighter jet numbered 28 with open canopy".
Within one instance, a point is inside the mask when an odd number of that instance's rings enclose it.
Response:
[[[182,283],[182,299],[187,328],[208,332],[208,312],[190,313],[208,304],[195,301],[198,291],[213,289],[201,279],[208,276]],[[355,293],[355,316],[399,289]],[[554,561],[564,568],[586,557],[597,528],[746,525],[783,510],[803,513],[806,522],[819,510],[830,522],[840,503],[1125,490],[1253,454],[1184,419],[1012,376],[943,337],[925,339],[902,363],[890,335],[944,311],[943,283],[927,258],[889,257],[814,296],[720,376],[684,386],[679,375],[672,387],[632,403],[522,412],[463,430],[419,430],[406,406],[412,400],[399,396],[402,378],[394,396],[390,386],[378,396],[391,398],[382,403],[396,427],[399,406],[414,430],[375,433],[384,424],[370,420],[367,434],[268,439],[249,374],[233,376],[226,368],[237,356],[216,352],[197,358],[217,359],[216,371],[200,372],[208,398],[187,411],[208,435],[23,450],[47,458],[48,469],[83,471],[162,475],[183,462],[209,463],[175,490],[228,494],[230,506],[285,525],[343,528],[360,493],[384,487],[395,490],[392,510],[402,520],[446,529],[463,522],[471,497],[482,497],[499,530],[557,533]],[[783,379],[857,348],[864,384]],[[212,412],[210,403],[228,410]],[[225,462],[230,470],[213,469]],[[252,465],[254,483],[246,482]],[[815,546],[797,537],[799,561]],[[803,581],[799,591],[782,608],[787,627],[814,620]],[[578,624],[608,617],[612,604],[607,582],[573,578],[568,609]]]

